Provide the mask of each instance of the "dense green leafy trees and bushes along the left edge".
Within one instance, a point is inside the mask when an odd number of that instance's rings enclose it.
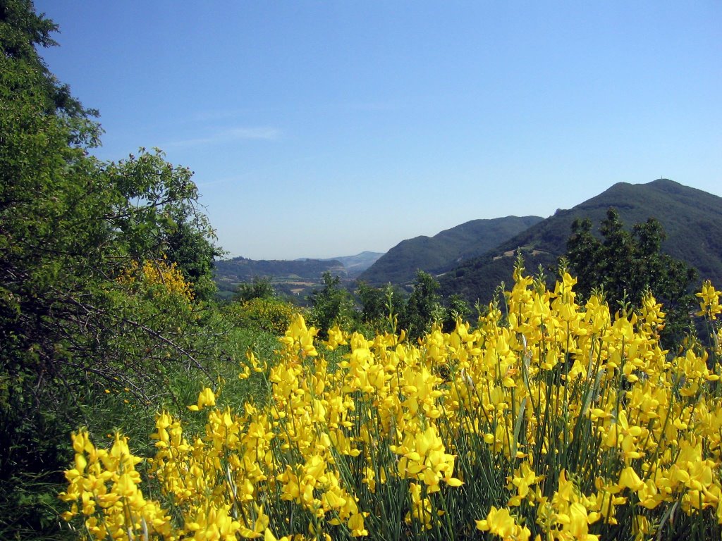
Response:
[[[46,495],[26,489],[58,477],[59,442],[105,389],[149,400],[201,366],[214,290],[191,172],[160,151],[90,156],[93,112],[35,50],[53,30],[29,1],[0,4],[0,537],[48,527]],[[153,261],[156,281],[140,270]],[[162,283],[174,269],[195,300]]]

